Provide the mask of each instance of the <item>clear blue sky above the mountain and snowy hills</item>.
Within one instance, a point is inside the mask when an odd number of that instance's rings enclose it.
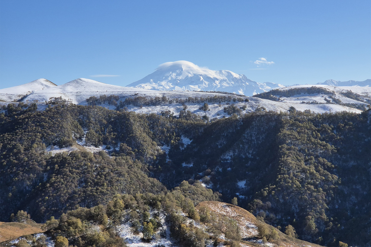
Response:
[[[177,60],[257,82],[363,81],[370,30],[370,0],[1,0],[0,88],[80,77],[126,86]]]

